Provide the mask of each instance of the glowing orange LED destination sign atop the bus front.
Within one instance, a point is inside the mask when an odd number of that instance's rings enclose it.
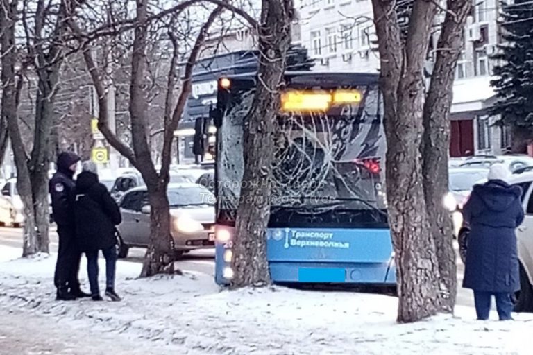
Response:
[[[281,111],[327,111],[332,105],[361,101],[362,94],[359,90],[339,89],[333,92],[290,90],[281,94]]]

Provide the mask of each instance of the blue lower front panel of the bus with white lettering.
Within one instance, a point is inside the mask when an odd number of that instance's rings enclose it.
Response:
[[[233,231],[232,231],[233,232]],[[231,242],[230,242],[231,243]],[[226,264],[215,243],[217,284]],[[390,231],[387,229],[270,228],[267,258],[273,282],[396,284]]]

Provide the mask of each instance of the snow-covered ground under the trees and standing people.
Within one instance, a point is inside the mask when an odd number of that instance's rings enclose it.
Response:
[[[203,274],[136,279],[141,266],[127,262],[118,265],[123,302],[56,302],[55,257],[10,260],[19,254],[0,247],[0,308],[120,341],[179,347],[180,354],[531,353],[533,315],[477,322],[473,309],[457,308],[455,318],[396,324],[394,297],[280,287],[221,291]]]

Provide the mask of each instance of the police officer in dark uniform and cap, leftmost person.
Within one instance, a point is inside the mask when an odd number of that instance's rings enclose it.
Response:
[[[69,196],[74,189],[74,173],[76,164],[80,161],[78,155],[71,152],[60,153],[57,171],[49,182],[52,199],[53,219],[58,225],[59,250],[56,263],[54,284],[56,284],[58,300],[74,300],[78,297],[90,297],[81,291],[78,281],[81,252],[76,245],[76,225],[74,224],[73,207]]]

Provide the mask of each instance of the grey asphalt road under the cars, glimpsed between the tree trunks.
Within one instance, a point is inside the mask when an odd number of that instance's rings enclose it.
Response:
[[[51,230],[51,251],[58,249],[58,237],[56,230]],[[22,248],[22,230],[17,228],[0,227],[0,245],[13,248]],[[141,263],[144,257],[144,249],[132,248],[126,260]],[[197,250],[185,254],[183,259],[177,262],[178,268],[184,271],[203,272],[206,275],[214,275],[214,250]],[[473,306],[473,295],[470,290],[461,288],[464,267],[461,261],[457,261],[457,304],[460,306]]]

